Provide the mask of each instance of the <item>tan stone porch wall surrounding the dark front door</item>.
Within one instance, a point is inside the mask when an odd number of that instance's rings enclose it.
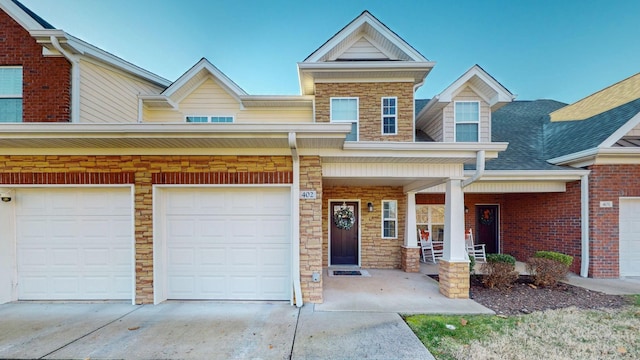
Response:
[[[399,269],[404,244],[404,219],[407,211],[406,196],[402,187],[371,186],[371,187],[325,187],[322,208],[322,264],[328,266],[329,259],[329,221],[328,201],[359,199],[360,209],[360,251],[361,264],[365,268]],[[382,200],[398,201],[398,237],[396,239],[382,238]],[[369,212],[367,203],[373,203],[375,210]]]

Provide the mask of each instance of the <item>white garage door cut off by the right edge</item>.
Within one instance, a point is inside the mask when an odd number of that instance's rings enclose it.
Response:
[[[620,199],[620,276],[640,276],[640,199]]]

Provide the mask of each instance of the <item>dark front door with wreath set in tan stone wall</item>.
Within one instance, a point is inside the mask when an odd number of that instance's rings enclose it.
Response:
[[[332,202],[331,207],[331,265],[358,265],[358,203]],[[346,209],[349,211],[344,211]],[[336,214],[353,213],[336,219]],[[342,219],[342,220],[341,220]],[[349,224],[351,226],[349,227]]]

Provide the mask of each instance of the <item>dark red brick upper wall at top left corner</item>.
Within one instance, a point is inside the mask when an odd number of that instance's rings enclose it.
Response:
[[[63,57],[42,56],[42,46],[0,11],[0,66],[21,65],[24,122],[68,122],[71,65]]]

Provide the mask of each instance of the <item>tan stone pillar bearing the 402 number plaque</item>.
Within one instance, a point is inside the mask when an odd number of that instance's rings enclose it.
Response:
[[[318,156],[300,158],[300,190],[315,190],[316,199],[300,200],[300,283],[305,302],[321,303],[323,277],[311,281],[314,272],[322,274],[322,164]]]

